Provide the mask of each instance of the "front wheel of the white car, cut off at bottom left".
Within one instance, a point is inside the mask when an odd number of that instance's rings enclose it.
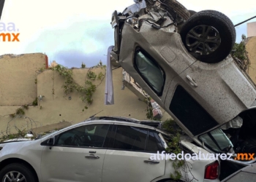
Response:
[[[29,167],[15,163],[7,165],[0,171],[0,181],[37,182],[37,178]]]

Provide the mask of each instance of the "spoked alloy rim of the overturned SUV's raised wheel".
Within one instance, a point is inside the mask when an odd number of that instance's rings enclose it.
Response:
[[[219,48],[221,38],[219,31],[209,25],[198,25],[192,28],[186,36],[186,45],[190,52],[209,55]]]

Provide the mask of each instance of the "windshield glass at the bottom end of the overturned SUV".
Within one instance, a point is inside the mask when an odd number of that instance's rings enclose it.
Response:
[[[203,142],[209,149],[217,152],[227,152],[230,150],[230,147],[233,147],[230,139],[227,138],[227,135],[220,128],[200,135],[199,140]]]

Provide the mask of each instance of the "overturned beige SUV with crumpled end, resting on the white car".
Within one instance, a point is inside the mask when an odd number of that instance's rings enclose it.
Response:
[[[236,41],[221,12],[176,0],[136,1],[113,12],[111,63],[124,68],[197,144],[213,153],[255,153],[256,90],[230,55]]]

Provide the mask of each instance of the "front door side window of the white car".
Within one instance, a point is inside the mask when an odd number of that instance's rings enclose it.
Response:
[[[56,145],[102,147],[110,124],[89,124],[63,132]]]

